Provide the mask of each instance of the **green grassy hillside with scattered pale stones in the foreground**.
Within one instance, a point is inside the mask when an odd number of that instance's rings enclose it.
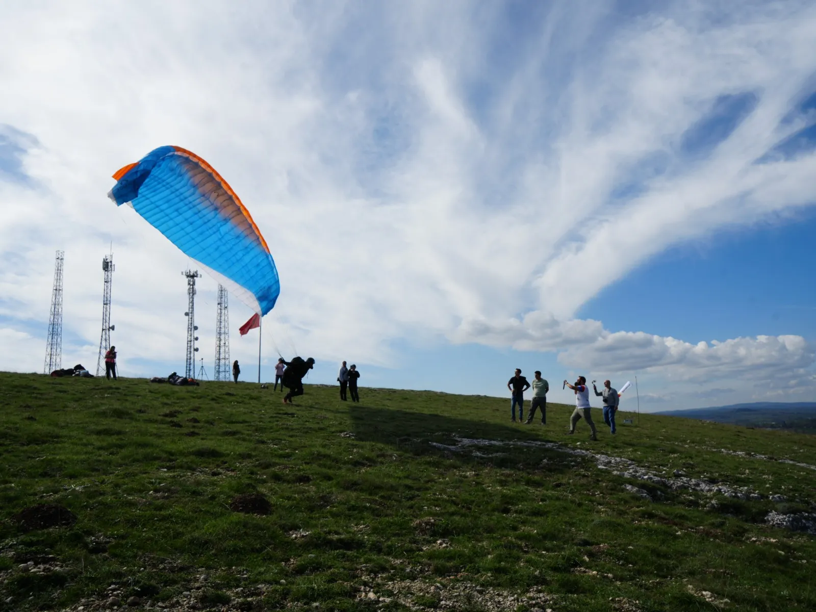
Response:
[[[508,409],[0,374],[0,610],[816,610],[816,437]]]

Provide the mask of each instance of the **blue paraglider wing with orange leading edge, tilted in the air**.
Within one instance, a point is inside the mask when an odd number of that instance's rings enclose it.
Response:
[[[215,169],[181,147],[159,147],[123,167],[108,196],[134,210],[259,315],[281,292],[269,247]]]

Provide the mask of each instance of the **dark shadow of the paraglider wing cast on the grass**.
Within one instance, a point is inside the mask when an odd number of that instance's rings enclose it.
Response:
[[[571,468],[574,457],[548,448],[514,446],[512,442],[550,441],[536,435],[541,425],[510,427],[450,416],[371,406],[349,410],[357,441],[397,446],[415,455],[443,455],[466,463],[489,463],[496,468],[530,470],[541,463],[548,471]],[[507,444],[467,445],[463,438],[508,442]]]

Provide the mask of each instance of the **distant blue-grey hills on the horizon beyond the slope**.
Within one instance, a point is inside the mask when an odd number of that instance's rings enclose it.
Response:
[[[797,432],[816,433],[816,401],[757,401],[752,404],[666,410],[654,414],[681,416],[686,419],[700,419],[743,427],[791,429]]]

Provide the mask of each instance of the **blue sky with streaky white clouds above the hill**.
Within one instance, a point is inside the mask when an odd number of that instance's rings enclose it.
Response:
[[[62,363],[95,370],[111,245],[122,375],[184,370],[195,262],[106,197],[175,144],[273,253],[264,380],[281,353],[495,397],[541,370],[565,402],[637,377],[623,410],[816,396],[813,2],[0,1],[0,36],[0,370],[43,370],[58,249]]]

